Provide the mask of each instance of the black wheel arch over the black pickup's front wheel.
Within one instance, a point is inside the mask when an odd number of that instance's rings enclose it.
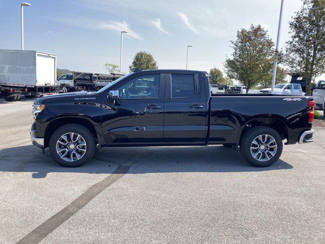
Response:
[[[93,134],[96,143],[101,142],[101,136],[100,136],[101,134],[98,131],[96,131],[95,126],[89,119],[85,117],[79,117],[79,116],[73,116],[73,117],[69,116],[69,117],[60,117],[60,118],[53,119],[47,125],[45,130],[45,136],[44,136],[44,147],[49,146],[50,138],[56,129],[68,124],[78,124],[86,127]],[[99,128],[97,128],[97,130],[99,130]]]

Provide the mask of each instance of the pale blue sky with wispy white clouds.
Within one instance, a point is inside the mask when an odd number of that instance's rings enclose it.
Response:
[[[160,69],[224,71],[230,40],[240,28],[261,24],[276,42],[281,0],[29,0],[24,7],[24,49],[57,55],[57,68],[105,73],[119,65],[128,73],[138,51],[153,55]],[[0,0],[0,49],[20,49],[20,3]],[[300,0],[284,0],[279,47],[289,40],[288,22]]]

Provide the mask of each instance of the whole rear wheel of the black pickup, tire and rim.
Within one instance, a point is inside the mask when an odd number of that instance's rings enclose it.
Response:
[[[259,137],[261,135],[262,137]],[[268,135],[268,137],[263,135]],[[271,142],[272,140],[274,142]],[[240,140],[239,148],[241,155],[248,163],[256,167],[267,167],[278,161],[282,154],[283,143],[281,136],[275,130],[259,126],[245,132]]]

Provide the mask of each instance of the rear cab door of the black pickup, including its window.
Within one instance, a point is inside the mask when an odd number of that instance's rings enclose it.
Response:
[[[164,140],[200,144],[207,135],[208,103],[201,73],[166,73]]]

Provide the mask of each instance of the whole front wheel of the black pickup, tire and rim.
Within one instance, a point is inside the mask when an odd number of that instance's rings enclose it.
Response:
[[[71,136],[72,133],[74,133],[73,136]],[[70,144],[71,141],[75,141],[76,143],[73,143],[74,145]],[[86,127],[78,124],[68,124],[58,128],[53,133],[50,138],[49,149],[52,158],[59,165],[64,167],[79,167],[92,158],[95,153],[96,143],[94,136]]]

